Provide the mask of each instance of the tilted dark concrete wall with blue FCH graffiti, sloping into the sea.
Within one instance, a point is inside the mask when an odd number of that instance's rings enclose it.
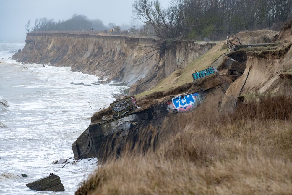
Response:
[[[124,140],[133,138],[133,133],[139,132],[149,125],[159,128],[168,115],[191,112],[210,102],[218,105],[218,101],[214,97],[218,100],[222,99],[228,86],[232,83],[230,76],[220,75],[219,72],[213,72],[200,79],[194,80],[192,92],[180,94],[148,108],[132,110],[132,112],[104,122],[91,123],[72,144],[74,157],[76,159],[98,157],[98,160],[101,161],[110,153],[108,140],[120,139],[119,144],[113,146],[119,150],[123,147]],[[112,145],[113,142],[110,144]]]

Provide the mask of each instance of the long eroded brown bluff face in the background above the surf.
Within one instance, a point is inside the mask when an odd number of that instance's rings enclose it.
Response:
[[[172,72],[186,67],[215,43],[173,41],[158,52],[154,38],[102,36],[76,33],[27,33],[22,51],[13,59],[71,67],[72,71],[136,84],[145,91]]]

